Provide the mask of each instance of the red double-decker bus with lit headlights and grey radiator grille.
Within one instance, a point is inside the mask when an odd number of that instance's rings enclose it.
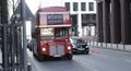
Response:
[[[70,44],[70,13],[64,7],[40,8],[37,11],[37,25],[33,33],[33,55],[38,60],[48,57],[66,57],[72,60]]]

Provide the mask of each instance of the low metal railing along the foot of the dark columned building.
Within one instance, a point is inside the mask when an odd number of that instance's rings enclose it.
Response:
[[[91,48],[106,48],[106,49],[131,52],[131,45],[112,44],[112,43],[98,43],[97,37],[94,37],[94,36],[88,36],[87,40],[88,40],[87,44]]]

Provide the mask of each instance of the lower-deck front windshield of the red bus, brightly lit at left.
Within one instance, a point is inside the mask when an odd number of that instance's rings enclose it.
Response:
[[[40,28],[41,39],[53,39],[68,37],[69,29],[67,27]]]

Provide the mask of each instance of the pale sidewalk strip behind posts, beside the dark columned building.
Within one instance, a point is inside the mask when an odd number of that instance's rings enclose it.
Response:
[[[106,44],[106,43],[96,43],[91,42],[87,43],[91,47],[99,47],[99,48],[107,48],[107,49],[115,49],[115,50],[122,50],[122,51],[130,51],[131,52],[131,45],[123,45],[123,44]]]

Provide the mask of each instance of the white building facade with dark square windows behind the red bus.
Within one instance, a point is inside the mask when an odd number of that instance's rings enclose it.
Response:
[[[74,36],[94,36],[96,26],[95,0],[64,0],[72,17],[72,33]]]

